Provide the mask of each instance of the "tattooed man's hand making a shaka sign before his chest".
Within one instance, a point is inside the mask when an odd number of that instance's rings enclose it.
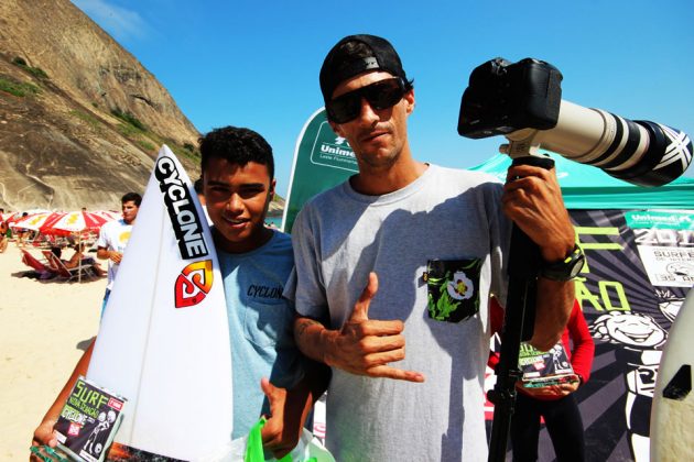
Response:
[[[369,305],[377,292],[378,277],[370,273],[369,283],[349,319],[338,331],[327,331],[330,348],[325,352],[325,363],[357,375],[424,382],[424,375],[419,372],[388,365],[405,358],[404,324],[400,320],[369,319]]]

